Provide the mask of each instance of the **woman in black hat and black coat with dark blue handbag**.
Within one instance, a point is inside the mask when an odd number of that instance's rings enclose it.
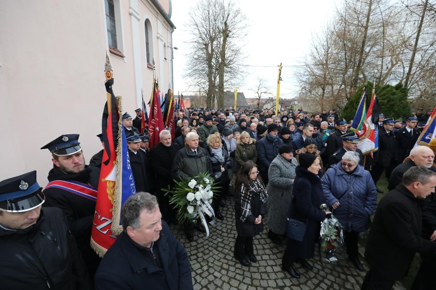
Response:
[[[300,263],[304,268],[312,270],[313,267],[307,259],[313,258],[315,243],[319,239],[321,222],[331,212],[325,212],[319,206],[325,203],[322,194],[321,179],[318,176],[321,166],[320,157],[303,153],[299,156],[300,165],[295,168],[294,187],[288,215],[290,218],[306,224],[306,233],[302,241],[288,239],[285,254],[281,260],[281,269],[292,277],[300,278],[294,268],[294,262]]]

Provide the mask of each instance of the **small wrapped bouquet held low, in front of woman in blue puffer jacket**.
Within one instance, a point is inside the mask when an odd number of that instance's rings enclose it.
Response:
[[[326,204],[321,204],[320,209],[329,211]],[[329,262],[337,261],[335,256],[336,247],[342,245],[344,242],[342,225],[338,219],[331,214],[330,218],[321,222],[321,249],[324,251],[325,260]]]

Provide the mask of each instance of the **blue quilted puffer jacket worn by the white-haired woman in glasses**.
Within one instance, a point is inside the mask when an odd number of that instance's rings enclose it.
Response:
[[[350,189],[345,190],[354,180]],[[377,190],[373,179],[362,165],[347,174],[341,162],[330,167],[321,178],[325,201],[331,207],[339,201],[333,215],[346,231],[364,232],[369,226],[369,216],[376,211]]]

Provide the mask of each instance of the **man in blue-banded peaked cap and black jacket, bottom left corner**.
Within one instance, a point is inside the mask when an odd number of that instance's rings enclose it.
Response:
[[[36,171],[0,182],[2,289],[92,289],[67,219],[44,200]]]

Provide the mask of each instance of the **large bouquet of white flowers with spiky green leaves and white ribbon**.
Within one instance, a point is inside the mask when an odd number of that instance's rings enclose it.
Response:
[[[205,214],[210,218],[215,216],[212,203],[213,190],[215,190],[215,182],[207,173],[200,173],[189,180],[174,180],[176,187],[173,189],[165,189],[166,194],[171,194],[169,204],[173,205],[177,210],[177,218],[179,223],[190,221],[194,225],[200,218],[206,236],[209,236],[209,228],[205,219]]]

